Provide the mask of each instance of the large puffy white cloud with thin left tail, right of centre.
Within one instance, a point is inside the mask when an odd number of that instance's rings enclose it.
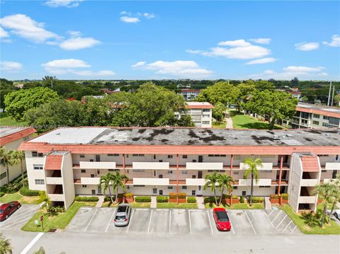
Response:
[[[202,54],[207,57],[227,57],[229,59],[254,59],[271,54],[271,50],[259,45],[252,45],[246,40],[227,40],[218,42],[219,46],[211,47],[210,51],[186,50],[191,54]]]

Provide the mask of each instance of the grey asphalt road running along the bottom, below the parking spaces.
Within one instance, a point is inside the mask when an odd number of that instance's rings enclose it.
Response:
[[[227,232],[226,232],[227,233]],[[4,231],[13,253],[29,245],[38,233]],[[340,236],[155,236],[108,233],[45,233],[30,245],[28,253],[43,246],[47,254],[61,253],[308,253],[339,254]]]

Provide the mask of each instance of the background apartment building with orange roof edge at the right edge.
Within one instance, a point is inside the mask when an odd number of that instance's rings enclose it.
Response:
[[[340,108],[299,103],[292,119],[284,122],[293,129],[340,127]]]

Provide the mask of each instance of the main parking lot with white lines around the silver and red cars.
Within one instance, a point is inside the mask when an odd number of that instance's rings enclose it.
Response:
[[[210,209],[132,209],[130,224],[116,227],[115,208],[81,207],[67,231],[157,235],[249,236],[300,233],[282,210],[229,210],[232,231],[217,231]]]

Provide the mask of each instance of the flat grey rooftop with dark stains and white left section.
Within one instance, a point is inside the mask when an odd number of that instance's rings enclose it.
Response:
[[[200,129],[68,127],[54,129],[30,142],[93,145],[179,146],[340,146],[340,129]]]

